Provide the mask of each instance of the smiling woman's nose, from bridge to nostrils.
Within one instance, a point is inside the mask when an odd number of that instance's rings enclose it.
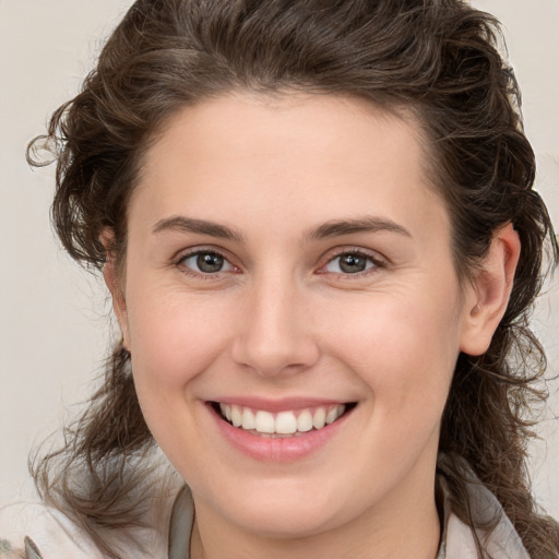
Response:
[[[294,281],[262,278],[247,294],[233,358],[261,376],[293,374],[312,367],[320,350],[309,297]]]

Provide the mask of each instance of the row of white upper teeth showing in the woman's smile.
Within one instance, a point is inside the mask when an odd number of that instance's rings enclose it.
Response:
[[[235,426],[267,435],[293,435],[307,432],[312,428],[322,429],[335,421],[344,412],[345,405],[320,406],[297,412],[272,414],[263,409],[219,404],[222,414]]]

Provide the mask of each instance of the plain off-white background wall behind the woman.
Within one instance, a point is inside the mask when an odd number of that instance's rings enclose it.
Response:
[[[265,1],[265,0],[263,0]],[[29,450],[79,409],[109,345],[100,280],[61,251],[48,214],[53,168],[25,145],[72,97],[130,0],[0,0],[0,506],[29,495]],[[538,157],[538,190],[559,228],[559,0],[476,0],[504,26]],[[559,273],[534,317],[559,374]],[[559,518],[559,380],[532,448],[534,492]]]

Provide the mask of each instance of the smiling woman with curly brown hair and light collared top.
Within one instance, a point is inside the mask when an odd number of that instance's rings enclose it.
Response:
[[[557,557],[525,473],[554,237],[496,33],[454,0],[130,9],[49,128],[122,340],[28,557]]]

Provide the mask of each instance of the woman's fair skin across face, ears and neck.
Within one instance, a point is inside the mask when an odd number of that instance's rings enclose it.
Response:
[[[151,147],[105,277],[147,425],[192,489],[193,559],[437,555],[454,364],[487,347],[520,247],[500,229],[461,292],[424,144],[362,100],[236,94]],[[218,404],[346,407],[270,436]]]

